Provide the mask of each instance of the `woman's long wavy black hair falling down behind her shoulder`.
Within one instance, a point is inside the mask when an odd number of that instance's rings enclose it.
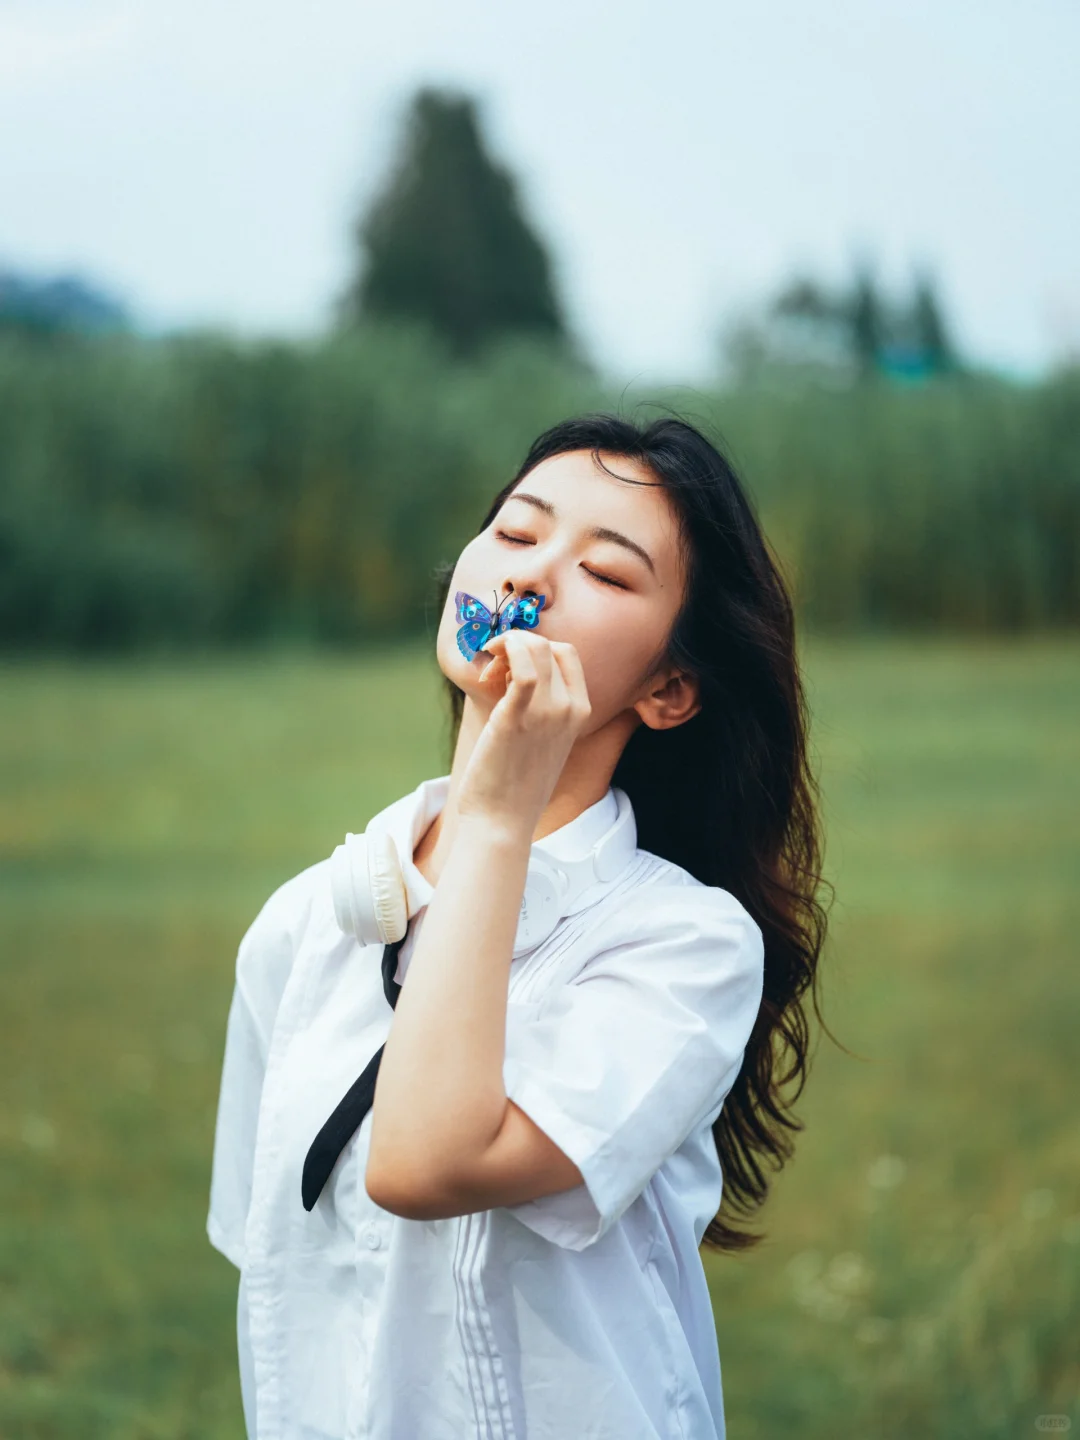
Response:
[[[671,497],[688,560],[667,658],[698,677],[701,708],[668,730],[638,726],[612,783],[634,805],[638,845],[730,891],[765,939],[765,991],[739,1076],[713,1125],[724,1187],[703,1244],[746,1250],[763,1236],[732,1225],[766,1200],[765,1162],[793,1152],[791,1115],[808,1073],[809,991],[825,939],[821,828],[806,753],[808,714],[788,588],[732,465],[698,429],[664,418],[563,420],[534,441],[477,533],[541,461],[570,451],[638,461]],[[606,467],[605,467],[606,468]],[[626,484],[641,481],[625,480]],[[441,606],[452,566],[439,573]],[[464,694],[446,681],[451,749]],[[785,1089],[795,1081],[793,1093]]]

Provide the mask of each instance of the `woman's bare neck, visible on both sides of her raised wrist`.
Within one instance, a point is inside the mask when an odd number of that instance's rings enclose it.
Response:
[[[487,723],[490,710],[481,708],[471,696],[465,696],[458,740],[454,747],[446,804],[420,837],[413,852],[413,864],[429,881],[436,884],[442,867],[454,845],[458,827],[456,798],[472,749]],[[569,825],[583,811],[589,809],[608,792],[615,766],[626,742],[641,719],[634,710],[613,716],[599,730],[580,736],[567,756],[563,773],[544,806],[543,815],[533,831],[533,841],[543,840],[563,825]]]

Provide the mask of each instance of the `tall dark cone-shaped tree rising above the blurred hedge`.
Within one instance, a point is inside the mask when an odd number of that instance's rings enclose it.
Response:
[[[418,92],[397,163],[357,240],[344,324],[423,320],[459,356],[513,331],[564,336],[547,252],[465,95]]]

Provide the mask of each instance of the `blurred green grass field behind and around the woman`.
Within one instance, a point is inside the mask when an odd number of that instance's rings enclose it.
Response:
[[[1080,1423],[1080,645],[818,644],[808,674],[854,1054],[818,1047],[766,1243],[707,1259],[729,1433]],[[0,670],[3,1440],[243,1436],[203,1230],[236,945],[445,772],[436,678]]]

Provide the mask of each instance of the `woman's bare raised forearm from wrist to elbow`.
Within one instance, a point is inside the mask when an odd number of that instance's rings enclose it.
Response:
[[[462,816],[379,1067],[369,1178],[445,1187],[500,1132],[510,962],[531,834]]]

